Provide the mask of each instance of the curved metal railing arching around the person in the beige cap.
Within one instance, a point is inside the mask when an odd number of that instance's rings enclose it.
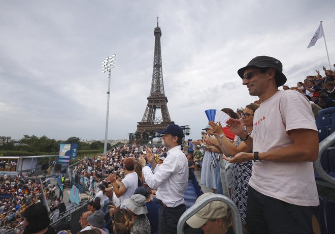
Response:
[[[184,224],[186,220],[188,220],[192,215],[194,215],[199,210],[203,209],[209,202],[216,201],[216,200],[222,201],[226,203],[228,207],[230,207],[231,212],[232,212],[232,217],[234,219],[233,223],[235,224],[233,227],[234,233],[236,234],[243,233],[242,219],[241,219],[239,209],[236,207],[236,204],[232,200],[230,200],[229,197],[226,197],[221,194],[208,195],[204,197],[203,199],[201,199],[200,201],[194,203],[193,206],[191,206],[190,208],[188,208],[188,210],[185,211],[185,213],[180,217],[178,221],[177,233],[183,234]]]

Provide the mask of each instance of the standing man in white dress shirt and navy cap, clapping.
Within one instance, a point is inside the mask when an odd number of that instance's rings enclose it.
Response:
[[[143,166],[142,172],[150,188],[158,188],[156,197],[159,199],[158,233],[177,233],[177,224],[180,216],[186,211],[184,194],[188,183],[188,163],[185,154],[181,151],[183,130],[175,124],[170,124],[164,130],[159,130],[164,140],[164,146],[169,149],[168,156],[160,166],[156,166],[155,157],[149,148],[146,166],[143,156],[139,163]]]

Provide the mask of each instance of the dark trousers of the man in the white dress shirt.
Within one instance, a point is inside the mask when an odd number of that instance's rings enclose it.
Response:
[[[165,207],[160,202],[158,211],[158,233],[159,234],[176,234],[177,224],[180,216],[186,211],[186,206],[184,204],[178,207]]]

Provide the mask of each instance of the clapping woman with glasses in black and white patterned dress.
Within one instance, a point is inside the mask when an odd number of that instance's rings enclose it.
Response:
[[[251,135],[253,128],[253,115],[259,105],[251,103],[247,105],[241,113],[242,122],[245,126],[248,135]],[[231,142],[222,132],[221,124],[215,124],[210,122],[209,125],[212,127],[214,135],[217,139],[216,146],[226,156],[235,156],[240,152],[252,152],[252,149],[243,142],[240,137]],[[226,159],[226,157],[223,157]],[[252,161],[246,161],[244,163],[233,163],[232,166],[232,186],[231,186],[231,199],[235,202],[238,207],[242,222],[245,224],[246,211],[247,211],[247,199],[249,189],[249,179],[252,172]]]

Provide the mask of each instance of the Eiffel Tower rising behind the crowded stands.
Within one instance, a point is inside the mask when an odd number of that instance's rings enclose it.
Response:
[[[162,35],[160,27],[158,26],[154,30],[155,35],[155,53],[154,63],[152,71],[152,81],[150,95],[147,98],[148,104],[144,111],[144,115],[141,122],[138,122],[137,130],[134,134],[129,133],[129,143],[148,143],[151,139],[157,137],[157,130],[166,128],[169,124],[173,124],[171,121],[168,106],[168,98],[164,93],[163,84],[163,70],[162,70],[162,56],[160,49],[160,37]],[[156,117],[156,110],[161,110],[161,117]]]

